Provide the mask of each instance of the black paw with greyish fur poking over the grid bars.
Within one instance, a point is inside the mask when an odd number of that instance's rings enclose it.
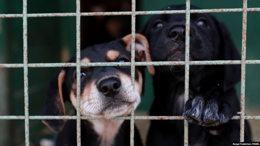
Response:
[[[184,119],[205,127],[229,122],[233,116],[231,105],[217,95],[198,95],[185,104]]]

